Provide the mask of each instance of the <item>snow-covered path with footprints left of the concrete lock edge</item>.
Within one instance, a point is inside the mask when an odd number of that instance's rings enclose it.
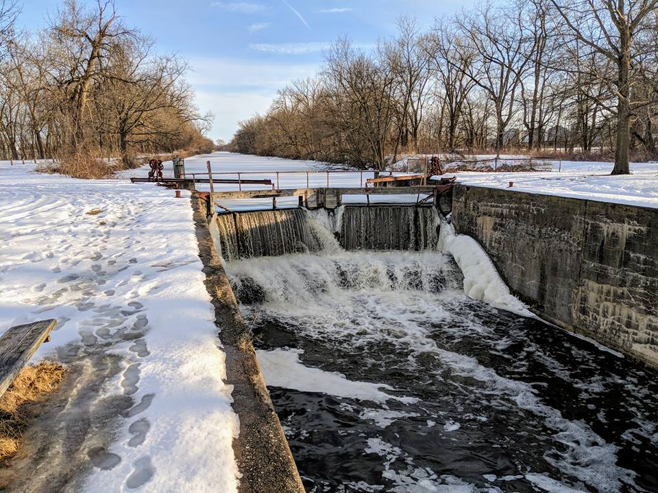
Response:
[[[239,427],[188,196],[0,162],[0,331],[57,318],[34,361],[71,368],[49,450],[19,460],[16,490],[236,490]]]

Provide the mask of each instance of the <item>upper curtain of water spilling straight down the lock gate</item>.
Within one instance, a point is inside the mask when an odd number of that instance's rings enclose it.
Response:
[[[341,249],[432,251],[439,239],[436,210],[409,205],[232,212],[218,214],[216,223],[226,262]]]

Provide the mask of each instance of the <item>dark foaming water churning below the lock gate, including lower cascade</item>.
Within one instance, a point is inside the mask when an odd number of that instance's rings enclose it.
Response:
[[[229,262],[309,492],[656,492],[655,375],[468,299],[441,253]]]

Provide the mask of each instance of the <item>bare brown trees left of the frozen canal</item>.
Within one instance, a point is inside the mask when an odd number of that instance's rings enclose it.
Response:
[[[112,0],[65,0],[38,33],[16,29],[19,14],[0,0],[0,158],[119,157],[125,167],[136,155],[214,149],[186,62],[157,53]]]

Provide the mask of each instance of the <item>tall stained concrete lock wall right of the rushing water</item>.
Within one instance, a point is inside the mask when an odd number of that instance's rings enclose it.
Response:
[[[452,222],[539,316],[658,368],[658,209],[459,185]]]

